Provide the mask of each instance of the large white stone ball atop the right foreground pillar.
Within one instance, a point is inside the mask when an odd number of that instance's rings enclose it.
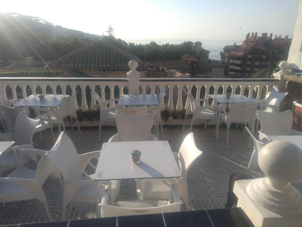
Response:
[[[302,178],[302,150],[288,141],[273,141],[259,153],[263,173],[274,182],[291,183]]]

